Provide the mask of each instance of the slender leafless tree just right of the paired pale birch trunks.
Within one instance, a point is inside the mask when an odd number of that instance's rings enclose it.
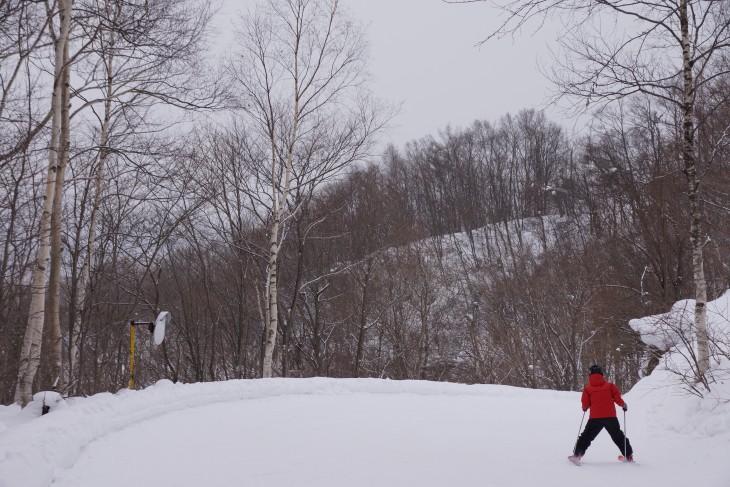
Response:
[[[85,255],[72,284],[73,310],[81,310],[87,297],[108,164],[134,159],[135,144],[174,125],[161,122],[158,106],[168,109],[167,118],[173,113],[170,107],[213,109],[218,97],[216,80],[204,75],[202,61],[212,15],[208,2],[85,0],[78,9],[87,19],[84,30],[96,34],[78,68],[84,88],[76,93],[83,101],[76,113],[91,110],[89,125],[97,128],[92,131],[96,138],[89,141],[96,152],[90,164],[93,199]],[[80,312],[70,320],[70,379],[80,353],[81,320]]]

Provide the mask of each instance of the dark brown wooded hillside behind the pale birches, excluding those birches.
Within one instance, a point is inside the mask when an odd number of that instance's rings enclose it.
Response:
[[[278,273],[275,374],[567,390],[600,362],[631,385],[646,352],[628,320],[665,311],[691,288],[688,215],[676,204],[684,176],[672,158],[676,127],[663,116],[636,104],[571,140],[525,111],[391,148],[377,164],[297,195]],[[125,385],[126,322],[162,309],[174,321],[162,347],[140,343],[139,384],[261,374],[267,236],[244,204],[246,175],[231,163],[245,144],[216,131],[194,145],[150,181],[154,202],[120,197],[148,191],[135,173],[112,179],[81,310],[79,393]],[[707,168],[713,296],[730,284],[727,161]],[[69,212],[91,197],[72,187]],[[76,221],[65,230],[71,257],[83,238]],[[11,289],[5,316],[22,315],[23,293]],[[5,402],[13,364],[5,354]]]

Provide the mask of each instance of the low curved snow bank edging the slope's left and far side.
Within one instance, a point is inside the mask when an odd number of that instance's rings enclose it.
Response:
[[[55,469],[73,465],[81,449],[91,441],[172,411],[271,396],[352,393],[490,397],[570,394],[508,386],[378,379],[258,379],[198,384],[162,380],[142,391],[125,389],[117,394],[97,394],[0,432],[0,487],[48,487]]]

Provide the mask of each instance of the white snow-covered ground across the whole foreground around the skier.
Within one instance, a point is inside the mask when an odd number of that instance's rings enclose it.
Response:
[[[617,461],[605,432],[583,466],[566,460],[582,416],[576,392],[163,380],[42,417],[38,401],[0,407],[0,486],[729,486],[730,407],[676,395],[669,379],[655,372],[625,394],[636,465]]]

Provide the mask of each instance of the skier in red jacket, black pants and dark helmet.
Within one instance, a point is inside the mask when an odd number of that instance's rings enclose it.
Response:
[[[588,385],[583,389],[581,403],[583,411],[590,409],[591,414],[583,433],[578,437],[571,460],[574,463],[580,462],[591,442],[603,428],[606,428],[613,442],[621,450],[624,459],[632,462],[634,450],[631,448],[628,438],[624,436],[624,432],[621,431],[618,418],[616,418],[616,407],[614,406],[614,403],[618,404],[626,411],[628,409],[626,401],[621,398],[618,387],[606,381],[603,377],[603,370],[599,365],[591,365],[589,371]]]

